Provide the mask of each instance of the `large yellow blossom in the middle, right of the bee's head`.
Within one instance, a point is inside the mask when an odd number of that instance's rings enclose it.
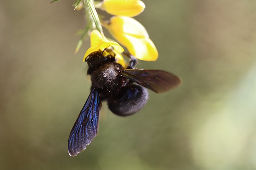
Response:
[[[156,46],[138,21],[126,16],[114,16],[110,19],[110,23],[102,24],[137,59],[156,61],[158,58]]]

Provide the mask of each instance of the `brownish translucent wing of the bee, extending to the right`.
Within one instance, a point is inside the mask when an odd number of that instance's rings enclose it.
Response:
[[[162,70],[121,69],[121,74],[156,93],[166,92],[181,84],[180,78]]]

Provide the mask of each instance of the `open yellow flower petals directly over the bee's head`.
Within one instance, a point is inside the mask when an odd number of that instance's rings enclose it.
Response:
[[[94,51],[98,51],[99,49],[103,51],[109,46],[113,47],[116,53],[122,53],[124,51],[118,43],[108,41],[98,30],[93,30],[91,33],[91,47],[86,51],[83,61],[85,61],[86,57]]]

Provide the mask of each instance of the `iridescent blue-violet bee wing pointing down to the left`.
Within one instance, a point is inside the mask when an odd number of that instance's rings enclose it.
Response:
[[[86,100],[68,138],[68,153],[76,156],[86,149],[98,134],[101,107],[98,91],[93,89]]]

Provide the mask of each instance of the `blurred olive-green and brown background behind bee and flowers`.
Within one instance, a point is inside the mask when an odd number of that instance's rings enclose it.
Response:
[[[49,2],[0,1],[1,170],[256,169],[256,1],[145,0],[136,19],[159,59],[138,67],[183,84],[150,92],[130,117],[103,104],[98,136],[76,157],[68,135],[90,93],[90,44],[74,55],[84,12]]]

